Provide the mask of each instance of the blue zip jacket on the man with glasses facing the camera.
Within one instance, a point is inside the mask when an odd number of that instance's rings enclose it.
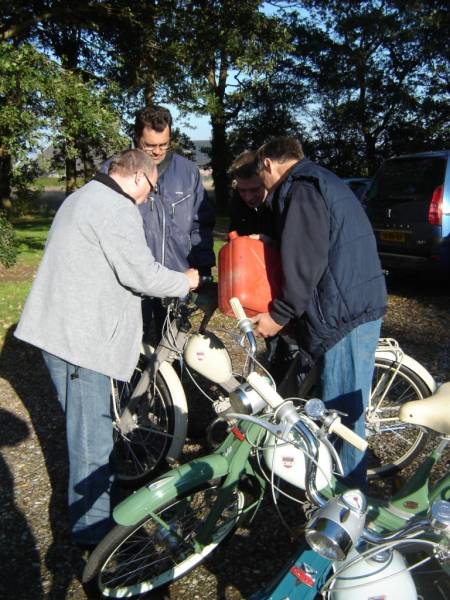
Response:
[[[103,172],[109,162],[102,166]],[[215,264],[214,208],[192,161],[168,154],[158,165],[156,192],[139,210],[157,262],[175,271],[195,267],[202,275],[210,274]]]

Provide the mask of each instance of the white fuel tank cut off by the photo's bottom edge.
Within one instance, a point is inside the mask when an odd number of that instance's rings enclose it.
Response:
[[[358,556],[350,551],[345,562],[335,563],[341,569]],[[394,550],[385,562],[361,559],[341,572],[333,582],[328,600],[417,600],[416,586],[403,556]]]

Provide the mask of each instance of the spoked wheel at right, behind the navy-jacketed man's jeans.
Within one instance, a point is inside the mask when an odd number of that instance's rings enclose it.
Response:
[[[405,402],[431,395],[417,373],[404,364],[377,357],[366,412],[369,479],[393,475],[409,465],[426,443],[427,433],[398,420]]]

